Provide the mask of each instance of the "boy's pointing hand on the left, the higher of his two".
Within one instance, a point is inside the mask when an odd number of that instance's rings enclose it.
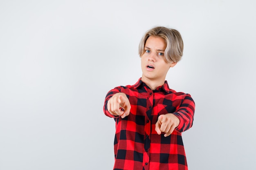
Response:
[[[108,100],[108,112],[111,115],[124,118],[130,114],[130,108],[129,99],[124,93],[116,93]]]

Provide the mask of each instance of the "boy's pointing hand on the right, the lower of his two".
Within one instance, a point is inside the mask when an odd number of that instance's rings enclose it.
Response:
[[[161,132],[165,132],[164,137],[171,135],[173,130],[180,124],[180,119],[173,115],[172,113],[167,113],[165,115],[160,115],[158,117],[157,123],[155,124],[155,131],[158,135]]]

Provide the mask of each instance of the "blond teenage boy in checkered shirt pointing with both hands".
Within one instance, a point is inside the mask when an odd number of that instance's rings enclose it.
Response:
[[[187,170],[181,133],[193,124],[195,103],[165,81],[182,53],[177,30],[148,30],[139,44],[142,77],[106,95],[104,113],[116,122],[114,170]]]

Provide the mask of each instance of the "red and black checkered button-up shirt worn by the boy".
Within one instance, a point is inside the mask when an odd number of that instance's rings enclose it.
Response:
[[[108,100],[125,93],[131,105],[124,119],[111,115]],[[176,92],[167,82],[152,91],[141,78],[133,86],[119,86],[108,92],[103,107],[116,122],[114,170],[187,170],[181,132],[191,128],[195,103],[189,94]],[[159,115],[173,113],[180,124],[173,133],[158,135],[155,124]]]

